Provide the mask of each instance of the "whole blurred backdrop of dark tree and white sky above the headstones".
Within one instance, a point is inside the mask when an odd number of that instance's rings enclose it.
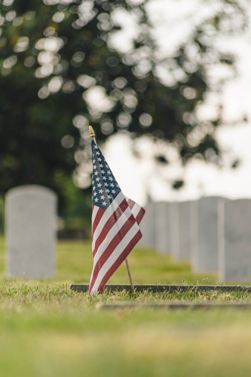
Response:
[[[2,232],[5,193],[40,184],[59,196],[61,232],[90,235],[89,124],[142,205],[250,197],[249,4],[3,0]]]

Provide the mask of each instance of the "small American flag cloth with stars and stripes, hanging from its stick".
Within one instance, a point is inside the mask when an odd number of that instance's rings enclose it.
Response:
[[[120,190],[99,147],[92,141],[92,253],[89,294],[102,292],[142,237],[145,209]]]

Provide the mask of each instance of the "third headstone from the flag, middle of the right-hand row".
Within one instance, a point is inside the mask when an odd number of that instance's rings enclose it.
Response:
[[[179,227],[179,248],[176,259],[190,261],[191,258],[191,201],[178,203],[178,227]]]

